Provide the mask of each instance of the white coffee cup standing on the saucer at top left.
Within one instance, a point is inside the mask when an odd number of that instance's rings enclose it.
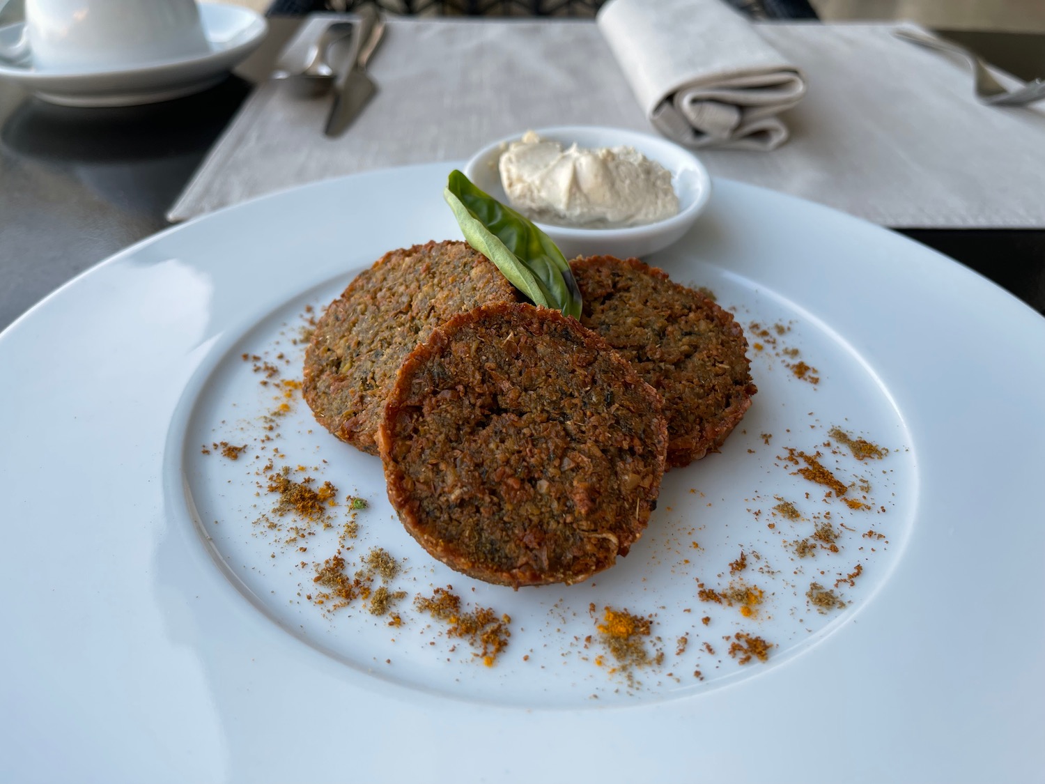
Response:
[[[25,0],[27,51],[47,70],[122,68],[210,49],[195,0]]]

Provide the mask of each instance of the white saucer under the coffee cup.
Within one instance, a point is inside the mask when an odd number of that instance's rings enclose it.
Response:
[[[204,90],[222,80],[258,47],[268,30],[264,19],[235,5],[202,3],[200,19],[210,51],[182,60],[83,70],[46,70],[31,55],[19,63],[0,61],[0,78],[16,82],[51,103],[70,107],[122,107],[153,103]],[[0,44],[14,44],[22,22],[0,27]]]

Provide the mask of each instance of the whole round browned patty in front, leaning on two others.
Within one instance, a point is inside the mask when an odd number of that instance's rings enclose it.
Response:
[[[389,499],[451,569],[574,583],[640,537],[665,467],[658,395],[556,310],[484,305],[407,358],[378,434]]]

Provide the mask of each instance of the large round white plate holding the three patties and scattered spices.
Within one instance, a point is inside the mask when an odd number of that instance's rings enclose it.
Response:
[[[454,165],[324,182],[171,229],[0,336],[4,777],[1036,778],[1045,321],[900,236],[720,181],[694,230],[650,260],[769,327],[775,345],[751,335],[760,391],[743,431],[666,478],[647,535],[593,583],[477,583],[404,533],[375,458],[275,384],[298,372],[306,304],[386,250],[459,235],[442,201]],[[786,366],[799,359],[818,384]],[[264,362],[280,368],[269,386],[254,371]],[[832,425],[890,452],[832,454]],[[233,462],[209,446],[223,440],[249,449]],[[468,606],[509,614],[495,665],[409,598],[399,628],[359,604],[324,615],[307,600],[311,563],[332,555],[347,512],[334,508],[336,527],[317,529],[305,553],[274,541],[288,520],[275,532],[257,523],[273,497],[255,475],[273,447],[277,465],[370,501],[349,561],[379,545],[405,560],[394,586],[410,597],[450,582]],[[869,484],[850,497],[873,509],[825,499],[788,447]],[[807,520],[773,516],[775,497]],[[783,541],[828,511],[840,552],[789,554]],[[741,549],[742,576],[765,592],[757,618],[697,596],[697,578],[729,582]],[[811,581],[832,586],[857,564],[854,585],[839,583],[844,609],[808,606]],[[606,605],[654,617],[660,666],[634,682],[608,671],[596,629]],[[738,630],[776,645],[767,663],[726,653]]]

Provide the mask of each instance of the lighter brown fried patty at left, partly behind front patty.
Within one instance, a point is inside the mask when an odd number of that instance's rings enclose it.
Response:
[[[385,399],[407,354],[450,317],[517,299],[497,268],[464,243],[391,251],[320,318],[305,351],[304,398],[320,424],[376,455]]]

